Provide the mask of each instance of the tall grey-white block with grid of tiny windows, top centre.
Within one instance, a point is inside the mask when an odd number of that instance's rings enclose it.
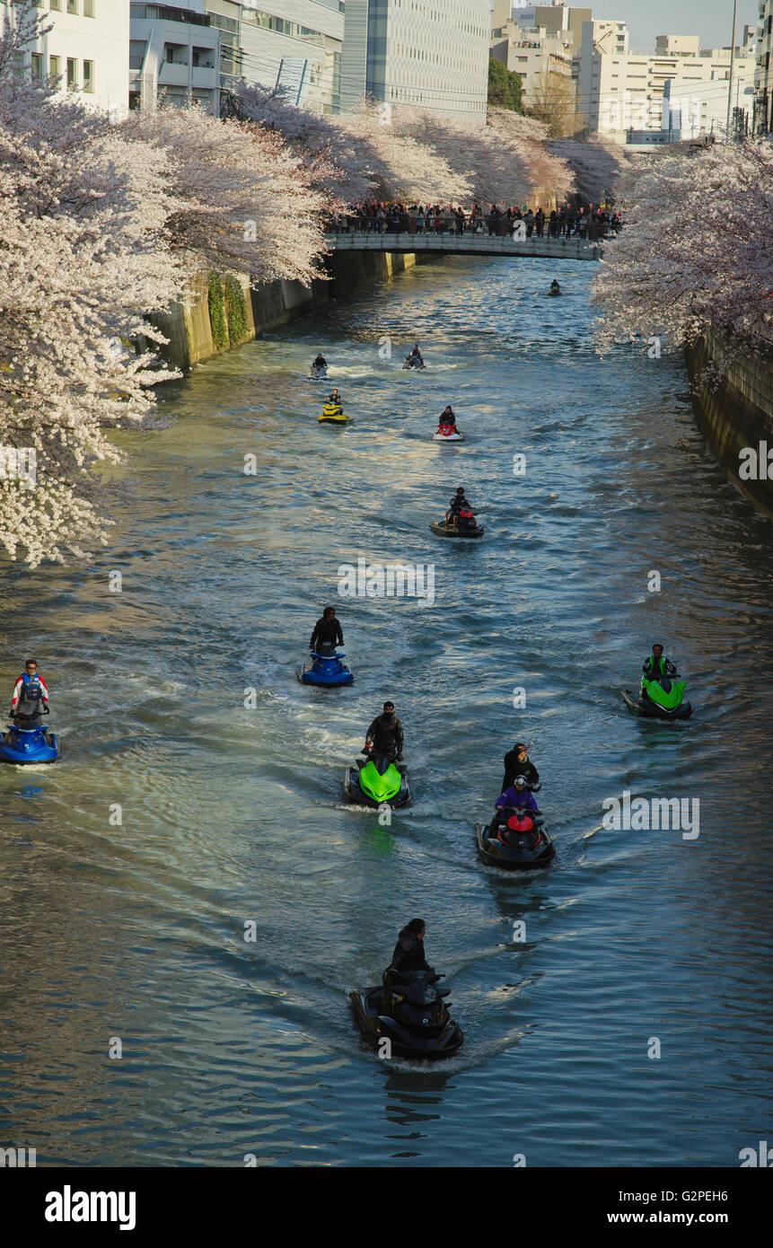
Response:
[[[346,0],[341,104],[368,94],[486,124],[491,0]]]

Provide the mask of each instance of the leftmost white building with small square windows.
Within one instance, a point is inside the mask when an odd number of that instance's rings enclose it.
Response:
[[[7,10],[6,2],[0,2]],[[32,77],[57,80],[60,91],[104,109],[114,120],[129,106],[129,0],[40,0],[51,30],[24,54]]]

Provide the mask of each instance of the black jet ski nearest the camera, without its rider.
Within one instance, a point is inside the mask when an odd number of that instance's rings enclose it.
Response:
[[[388,1040],[388,1056],[426,1060],[451,1057],[462,1047],[462,1028],[443,1000],[451,990],[438,991],[438,978],[430,971],[390,968],[382,987],[350,992],[355,1018],[373,1048]]]

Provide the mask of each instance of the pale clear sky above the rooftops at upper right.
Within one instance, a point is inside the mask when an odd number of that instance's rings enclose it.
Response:
[[[574,0],[574,2],[578,7],[592,9],[594,17],[626,21],[631,31],[631,51],[654,49],[656,35],[699,35],[702,47],[729,47],[731,44],[733,0]],[[757,26],[757,0],[738,0],[736,44],[741,42],[744,25]]]

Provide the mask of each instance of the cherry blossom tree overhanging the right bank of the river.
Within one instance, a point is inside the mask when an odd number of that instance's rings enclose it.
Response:
[[[771,344],[773,149],[716,144],[654,157],[593,283],[599,349],[664,336],[677,351],[709,331],[743,348]],[[729,357],[728,357],[729,358]],[[728,359],[717,361],[721,373]]]

